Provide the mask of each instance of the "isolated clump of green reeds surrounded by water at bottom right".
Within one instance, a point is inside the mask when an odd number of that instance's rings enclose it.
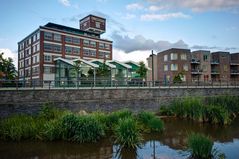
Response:
[[[203,134],[192,133],[188,137],[188,148],[192,158],[210,159],[213,158],[213,141]]]

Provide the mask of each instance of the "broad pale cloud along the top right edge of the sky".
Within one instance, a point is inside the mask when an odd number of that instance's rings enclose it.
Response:
[[[239,9],[239,0],[146,0],[156,6],[168,5],[170,8],[188,8],[195,12]]]

